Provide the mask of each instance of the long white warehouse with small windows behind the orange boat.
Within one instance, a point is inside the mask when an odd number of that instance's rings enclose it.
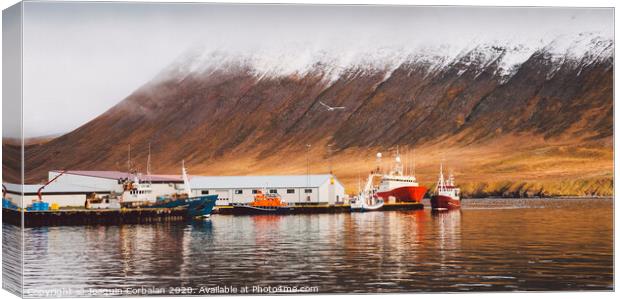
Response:
[[[276,176],[193,176],[194,196],[217,194],[217,205],[249,203],[259,191],[277,193],[288,204],[336,204],[344,186],[331,174]]]

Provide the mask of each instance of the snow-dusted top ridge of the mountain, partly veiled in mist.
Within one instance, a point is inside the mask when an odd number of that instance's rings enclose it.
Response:
[[[564,63],[583,67],[613,57],[613,40],[588,32],[540,39],[527,44],[492,41],[472,42],[464,47],[446,43],[338,50],[295,44],[265,46],[250,53],[230,49],[209,50],[202,46],[188,51],[165,73],[167,77],[179,79],[239,70],[258,78],[322,74],[324,80],[332,82],[354,73],[385,72],[387,77],[402,65],[419,65],[424,66],[429,73],[454,67],[458,69],[459,75],[471,70],[474,76],[493,67],[494,74],[505,82],[518,71],[521,64],[534,55],[541,55],[557,68]]]

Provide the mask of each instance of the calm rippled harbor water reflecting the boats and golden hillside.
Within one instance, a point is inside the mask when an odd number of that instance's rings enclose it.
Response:
[[[24,287],[37,296],[613,289],[612,199],[30,228],[24,244]]]

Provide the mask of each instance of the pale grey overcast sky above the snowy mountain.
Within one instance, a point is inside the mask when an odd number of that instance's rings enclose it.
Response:
[[[37,137],[78,128],[196,48],[269,55],[613,37],[613,10],[27,2],[23,26],[24,135]]]

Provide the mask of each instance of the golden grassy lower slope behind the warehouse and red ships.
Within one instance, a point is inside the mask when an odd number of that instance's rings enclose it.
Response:
[[[301,147],[301,146],[300,146]],[[409,173],[413,172],[413,148],[399,147]],[[309,153],[310,172],[326,173],[329,159],[325,143]],[[230,153],[213,163],[190,165],[194,174],[305,174],[306,153],[289,148],[289,154],[259,159]],[[332,169],[347,192],[355,192],[358,178],[365,180],[377,166],[375,154],[384,154],[389,167],[395,148],[350,148],[332,155]],[[533,136],[509,136],[484,144],[458,146],[450,140],[415,149],[415,174],[433,188],[440,161],[453,171],[467,197],[612,196],[613,148],[607,143],[574,144]]]

